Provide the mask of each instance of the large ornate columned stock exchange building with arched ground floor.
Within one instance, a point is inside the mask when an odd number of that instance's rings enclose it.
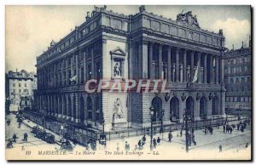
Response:
[[[177,20],[95,7],[85,22],[37,58],[37,109],[56,121],[110,131],[154,122],[224,117],[224,35],[202,30],[192,12]],[[196,81],[191,83],[196,77]],[[84,92],[90,79],[160,79],[167,93]]]

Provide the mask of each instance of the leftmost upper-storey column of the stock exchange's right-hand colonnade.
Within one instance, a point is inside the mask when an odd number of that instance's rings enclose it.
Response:
[[[142,65],[143,65],[143,79],[148,79],[148,42],[143,41],[143,49],[142,49]]]

